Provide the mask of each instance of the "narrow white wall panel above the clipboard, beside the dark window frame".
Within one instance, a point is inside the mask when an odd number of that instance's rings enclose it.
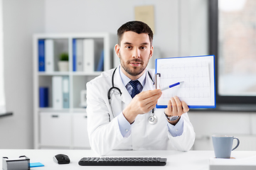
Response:
[[[208,55],[208,1],[180,1],[179,56]]]

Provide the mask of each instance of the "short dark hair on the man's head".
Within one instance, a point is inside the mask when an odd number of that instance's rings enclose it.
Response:
[[[120,42],[122,40],[122,35],[127,31],[133,31],[134,33],[141,34],[146,33],[149,35],[149,41],[150,45],[152,45],[153,42],[153,31],[151,28],[142,21],[129,21],[127,23],[124,23],[118,30],[117,30],[117,38],[118,38],[118,44],[120,45]]]

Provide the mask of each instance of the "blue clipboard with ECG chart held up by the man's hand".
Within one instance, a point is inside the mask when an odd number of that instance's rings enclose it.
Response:
[[[178,96],[188,108],[215,108],[215,56],[188,56],[156,59],[155,86],[183,81],[178,86],[162,91],[156,108],[167,108],[171,97]]]

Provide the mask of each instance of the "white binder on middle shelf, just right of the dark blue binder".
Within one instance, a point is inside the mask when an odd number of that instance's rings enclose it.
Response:
[[[63,77],[53,77],[53,108],[63,108]]]

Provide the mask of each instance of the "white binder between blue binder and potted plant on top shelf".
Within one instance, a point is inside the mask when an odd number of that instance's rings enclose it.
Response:
[[[46,72],[54,71],[54,43],[52,39],[46,39]]]

